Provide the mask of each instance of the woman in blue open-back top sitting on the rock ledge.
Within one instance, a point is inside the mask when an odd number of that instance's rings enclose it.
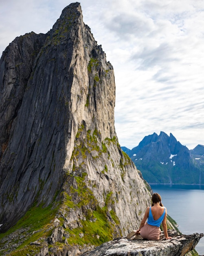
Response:
[[[171,237],[169,237],[167,233],[167,209],[163,207],[163,204],[161,202],[161,196],[158,193],[154,193],[151,197],[151,200],[152,205],[151,207],[147,207],[145,211],[145,216],[141,221],[140,227],[136,231],[132,231],[131,233],[129,233],[127,235],[128,239],[136,234],[140,234],[140,236],[148,240],[159,240],[161,234],[161,223],[165,233],[165,238],[171,239]]]

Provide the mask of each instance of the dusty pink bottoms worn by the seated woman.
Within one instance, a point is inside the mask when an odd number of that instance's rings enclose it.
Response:
[[[160,227],[155,227],[145,223],[140,229],[140,236],[148,240],[159,240],[161,234]]]

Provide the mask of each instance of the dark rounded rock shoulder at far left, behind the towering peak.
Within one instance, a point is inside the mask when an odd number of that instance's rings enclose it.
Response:
[[[46,36],[33,32],[18,37],[0,59],[0,159],[7,148],[13,119],[21,106],[35,58]]]

